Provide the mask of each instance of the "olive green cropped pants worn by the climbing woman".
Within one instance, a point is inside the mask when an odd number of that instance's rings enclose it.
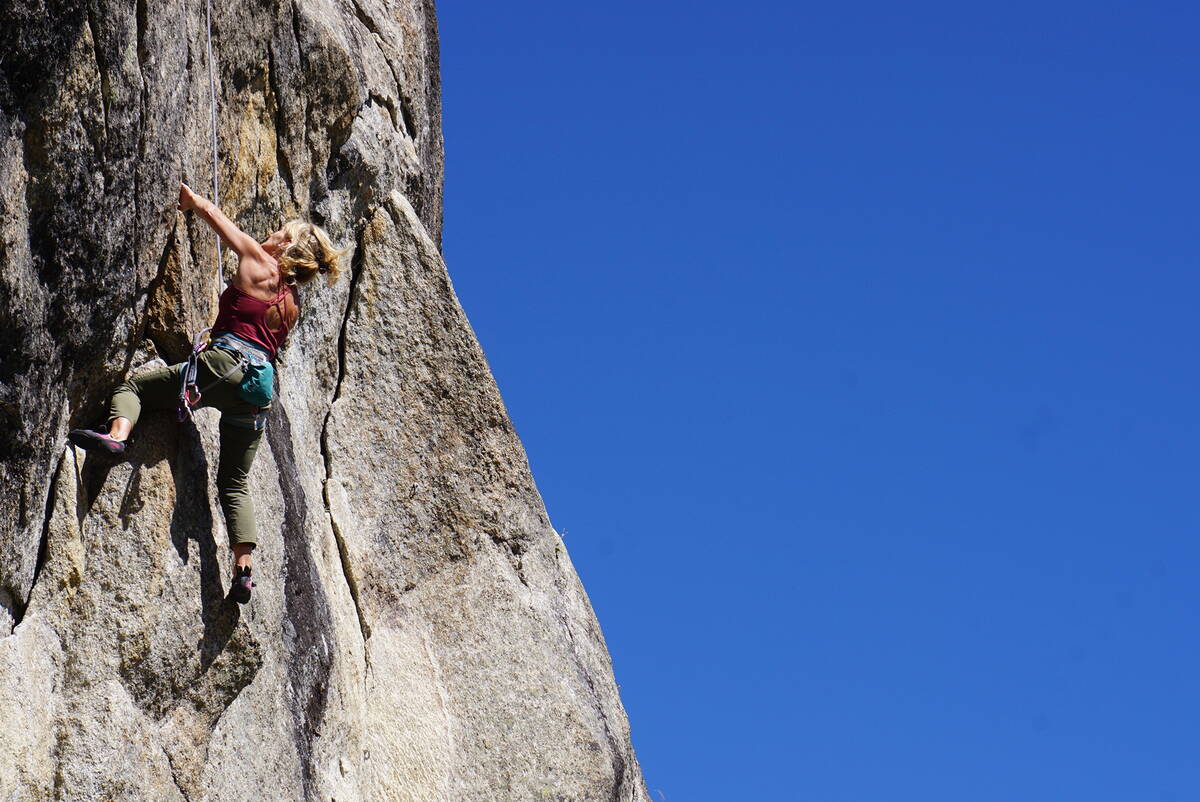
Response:
[[[217,462],[217,498],[224,510],[226,527],[229,529],[229,546],[258,541],[254,523],[254,501],[250,497],[250,466],[254,462],[263,429],[254,429],[265,417],[258,415],[270,407],[256,407],[238,395],[242,371],[239,367],[221,379],[238,364],[229,352],[210,348],[200,353],[196,371],[196,384],[203,391],[199,407],[221,411],[221,456]],[[185,363],[170,367],[156,367],[138,373],[113,394],[108,420],[127,418],[137,424],[143,409],[174,409],[179,403],[179,382]],[[211,387],[210,387],[211,385]]]

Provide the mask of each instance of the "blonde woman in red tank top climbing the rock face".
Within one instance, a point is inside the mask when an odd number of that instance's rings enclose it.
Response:
[[[329,234],[312,223],[293,220],[262,243],[239,229],[210,200],[179,186],[179,208],[194,210],[238,253],[238,274],[221,293],[217,319],[209,345],[194,354],[194,381],[187,382],[188,363],[158,367],[134,376],[113,395],[108,431],[76,429],[67,436],[76,445],[110,455],[125,453],[125,441],[143,409],[169,409],[180,403],[221,411],[221,456],[217,497],[229,529],[234,555],[229,598],[250,600],[250,556],[257,543],[254,503],[250,496],[250,466],[266,426],[270,384],[263,396],[250,379],[274,363],[300,315],[295,287],[318,274],[332,286],[342,251]],[[270,373],[270,371],[268,371]],[[185,387],[181,399],[180,387]],[[247,400],[247,397],[250,400]],[[185,409],[186,405],[186,409]]]

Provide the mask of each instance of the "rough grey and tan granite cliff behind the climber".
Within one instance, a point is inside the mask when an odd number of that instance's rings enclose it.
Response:
[[[0,19],[0,798],[647,798],[439,255],[432,2],[215,2],[222,207],[353,251],[280,360],[241,609],[216,413],[119,463],[64,439],[215,311],[174,210],[211,187],[204,5]]]

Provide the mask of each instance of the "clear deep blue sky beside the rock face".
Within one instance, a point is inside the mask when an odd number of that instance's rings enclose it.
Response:
[[[655,800],[1200,800],[1194,4],[439,2]]]

